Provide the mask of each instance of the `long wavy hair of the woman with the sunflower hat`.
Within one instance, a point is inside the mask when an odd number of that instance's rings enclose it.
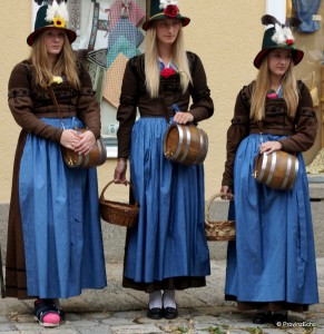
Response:
[[[43,33],[33,41],[29,60],[35,69],[36,84],[40,87],[47,88],[50,85],[52,76],[63,75],[69,85],[75,89],[80,88],[76,56],[67,35],[65,35],[62,51],[58,56],[53,68],[51,68],[46,45],[43,42]]]

